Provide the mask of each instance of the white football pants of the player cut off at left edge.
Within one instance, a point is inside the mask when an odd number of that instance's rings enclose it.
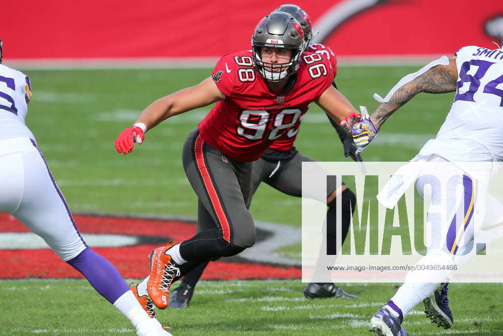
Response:
[[[14,215],[68,261],[86,248],[42,153],[29,138],[0,141],[0,212]]]

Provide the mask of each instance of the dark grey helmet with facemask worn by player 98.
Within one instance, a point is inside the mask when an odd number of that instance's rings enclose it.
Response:
[[[285,48],[292,51],[290,61],[271,63],[262,60],[262,47]],[[304,34],[300,24],[289,14],[271,13],[262,19],[251,38],[254,70],[269,82],[279,82],[297,72],[304,50]]]

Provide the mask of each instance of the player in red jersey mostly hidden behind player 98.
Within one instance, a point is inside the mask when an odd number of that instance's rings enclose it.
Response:
[[[301,25],[304,31],[304,41],[306,43],[306,51],[321,54],[330,61],[333,77],[336,77],[337,72],[337,57],[333,51],[323,44],[309,44],[313,38],[311,20],[306,12],[297,5],[282,5],[275,12],[285,12],[292,15]],[[316,57],[316,56],[313,56]],[[332,85],[337,89],[335,82]],[[297,119],[297,122],[291,127],[284,136],[276,140],[264,152],[262,157],[253,163],[251,171],[251,190],[250,196],[246,200],[246,206],[250,206],[251,197],[259,187],[261,182],[265,182],[291,196],[302,196],[302,162],[314,161],[311,158],[300,154],[294,147],[294,142],[299,131],[302,118],[307,111],[302,111],[302,114]],[[328,117],[332,126],[337,130],[339,138],[343,142],[344,155],[351,157],[356,161],[362,161],[361,156],[355,154],[356,146],[353,138],[344,131],[339,124]],[[355,209],[356,197],[349,188],[344,187],[343,190],[336,191],[336,179],[329,178],[327,180],[327,220],[326,232],[328,235],[328,251],[335,254],[336,249],[333,246],[336,242],[336,195],[341,193],[342,197],[342,243],[348,234],[349,225],[351,223],[352,210]],[[323,244],[325,246],[325,244]],[[170,307],[186,308],[190,304],[194,294],[195,286],[208,263],[202,263],[193,271],[189,272],[182,280],[180,286],[172,291],[170,296]],[[345,297],[356,298],[354,295],[347,294],[344,290],[334,285],[333,283],[309,283],[304,288],[304,296],[309,299],[326,298],[326,297]]]

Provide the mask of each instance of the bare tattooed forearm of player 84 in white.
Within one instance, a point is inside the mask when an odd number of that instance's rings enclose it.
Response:
[[[437,65],[423,75],[413,79],[399,88],[387,103],[382,103],[370,116],[376,129],[403,104],[420,92],[447,93],[456,91],[458,71],[456,61],[449,60],[449,65]]]

